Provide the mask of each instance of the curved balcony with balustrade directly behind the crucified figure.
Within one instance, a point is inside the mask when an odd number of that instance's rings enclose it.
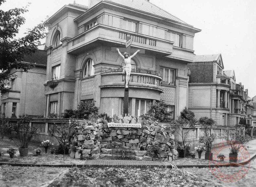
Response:
[[[124,87],[125,75],[122,71],[122,69],[109,69],[101,73],[102,81],[100,88]],[[135,71],[132,69],[129,88],[148,89],[161,93],[163,92],[160,87],[161,81],[160,74],[155,71],[143,69],[137,69]]]

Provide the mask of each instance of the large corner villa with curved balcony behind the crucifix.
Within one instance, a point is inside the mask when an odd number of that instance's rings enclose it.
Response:
[[[201,30],[147,0],[89,0],[68,4],[48,19],[45,116],[96,101],[100,113],[123,113],[124,78],[117,53],[132,39],[129,113],[146,113],[163,100],[178,116],[187,106],[193,38]]]

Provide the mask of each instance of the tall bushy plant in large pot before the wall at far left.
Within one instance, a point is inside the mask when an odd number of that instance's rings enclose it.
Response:
[[[36,127],[30,127],[30,116],[27,114],[19,115],[19,121],[17,123],[9,123],[7,131],[10,134],[10,139],[15,142],[14,138],[19,140],[20,156],[25,157],[28,155],[28,143],[31,138],[37,135]]]

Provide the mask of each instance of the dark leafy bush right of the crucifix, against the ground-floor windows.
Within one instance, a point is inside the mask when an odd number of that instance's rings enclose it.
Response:
[[[148,104],[149,111],[143,116],[150,116],[151,120],[159,122],[170,122],[172,121],[172,111],[167,111],[165,102],[151,102]]]

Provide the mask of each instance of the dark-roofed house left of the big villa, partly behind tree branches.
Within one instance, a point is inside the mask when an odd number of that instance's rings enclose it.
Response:
[[[45,45],[39,46],[44,49]],[[34,65],[28,72],[11,69],[13,78],[5,80],[10,86],[9,92],[1,94],[1,114],[4,117],[17,118],[22,113],[32,117],[42,116],[45,108],[44,81],[46,76],[47,51],[38,50],[31,56],[25,56],[24,64]]]

